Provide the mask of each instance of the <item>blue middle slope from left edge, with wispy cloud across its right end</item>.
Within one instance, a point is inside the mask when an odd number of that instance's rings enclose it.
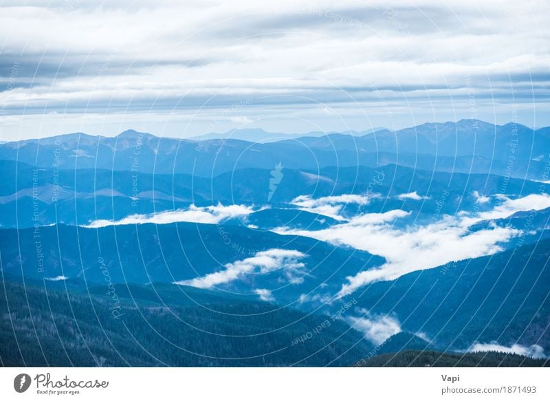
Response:
[[[218,272],[218,281],[200,283],[254,300],[261,298],[260,290],[269,290],[275,301],[296,307],[300,294],[336,293],[345,277],[384,262],[305,237],[193,223],[0,230],[0,252],[5,274],[28,279],[98,283],[108,276],[112,283],[146,284]],[[234,277],[236,268],[242,272]]]

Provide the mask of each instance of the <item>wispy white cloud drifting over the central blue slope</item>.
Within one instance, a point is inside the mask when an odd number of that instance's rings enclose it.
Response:
[[[275,270],[281,270],[291,283],[303,281],[305,264],[299,259],[307,255],[298,250],[270,249],[257,252],[254,257],[246,258],[224,265],[225,269],[219,272],[206,274],[197,279],[175,281],[174,284],[190,285],[196,288],[212,288],[241,279],[247,273],[266,274]],[[256,294],[259,294],[256,292]]]

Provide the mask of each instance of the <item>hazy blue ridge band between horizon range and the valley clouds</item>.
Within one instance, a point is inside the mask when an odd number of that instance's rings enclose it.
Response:
[[[326,167],[320,171],[283,168],[281,180],[271,191],[272,170],[241,169],[214,177],[185,174],[148,174],[104,169],[33,169],[27,164],[3,162],[5,180],[0,188],[1,224],[29,227],[53,223],[89,224],[96,219],[118,220],[128,215],[196,206],[255,204],[273,209],[296,208],[289,203],[300,195],[313,199],[333,195],[380,195],[369,200],[371,212],[401,208],[421,220],[454,215],[461,210],[485,210],[498,199],[478,203],[472,196],[527,195],[548,192],[549,184],[498,175],[441,173],[387,165]],[[399,199],[412,193],[424,199]],[[441,197],[445,202],[440,202]],[[344,210],[354,215],[353,205]],[[278,218],[292,212],[280,212]],[[264,215],[269,212],[263,212]],[[252,216],[251,216],[252,217]],[[256,215],[258,217],[258,215]],[[290,217],[290,216],[289,216]],[[292,218],[283,219],[291,224]],[[256,222],[251,221],[251,224]],[[258,224],[256,224],[258,225]],[[273,222],[259,226],[272,227]]]

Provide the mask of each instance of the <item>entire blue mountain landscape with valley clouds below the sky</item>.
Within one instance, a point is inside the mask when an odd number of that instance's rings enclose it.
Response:
[[[550,128],[0,144],[7,366],[542,366]]]

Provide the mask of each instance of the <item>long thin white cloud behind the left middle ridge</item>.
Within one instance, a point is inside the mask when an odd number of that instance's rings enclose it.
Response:
[[[179,221],[187,221],[189,223],[201,224],[219,224],[221,221],[243,217],[253,213],[254,209],[251,206],[230,205],[197,207],[189,206],[185,210],[173,210],[168,212],[153,213],[151,215],[131,215],[120,220],[104,220],[99,219],[92,221],[86,228],[101,228],[106,226],[122,226],[125,224],[171,224]]]

